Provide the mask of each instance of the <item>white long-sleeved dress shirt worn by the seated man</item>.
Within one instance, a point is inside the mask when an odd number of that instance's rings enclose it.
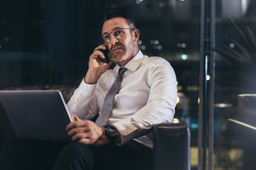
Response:
[[[129,140],[137,140],[153,147],[153,142],[145,135],[152,126],[169,123],[174,118],[177,81],[174,69],[161,57],[147,57],[138,54],[124,67],[123,81],[114,96],[114,108],[107,122],[120,133],[121,145]],[[91,119],[102,109],[102,105],[117,77],[119,66],[108,69],[97,84],[82,82],[68,102],[70,114],[81,119]]]

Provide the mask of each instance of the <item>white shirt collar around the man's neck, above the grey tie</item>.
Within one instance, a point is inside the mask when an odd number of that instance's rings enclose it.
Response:
[[[141,50],[139,50],[139,52],[137,53],[137,55],[135,55],[135,57],[132,58],[131,61],[129,61],[124,67],[131,70],[132,72],[135,72],[140,64],[142,64],[144,60],[144,55],[142,53]],[[117,70],[119,69],[119,65],[117,64]]]

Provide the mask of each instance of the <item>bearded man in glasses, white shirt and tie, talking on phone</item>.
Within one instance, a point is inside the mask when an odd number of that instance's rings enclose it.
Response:
[[[104,45],[90,55],[87,73],[68,102],[73,123],[66,130],[73,142],[60,149],[53,169],[153,169],[150,132],[174,118],[174,70],[166,60],[142,54],[139,30],[128,13],[105,15],[102,40]],[[109,50],[117,63],[114,69],[108,69],[112,61],[102,62],[106,56],[101,50]],[[105,98],[123,67],[122,83],[107,115]]]

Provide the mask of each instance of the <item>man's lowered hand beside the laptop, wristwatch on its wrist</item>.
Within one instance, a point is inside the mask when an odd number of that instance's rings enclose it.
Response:
[[[77,115],[73,115],[72,118],[73,122],[66,127],[72,141],[96,147],[110,143],[110,140],[105,136],[105,128],[90,120],[81,120]]]

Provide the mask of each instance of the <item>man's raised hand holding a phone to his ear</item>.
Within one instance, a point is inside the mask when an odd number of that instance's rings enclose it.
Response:
[[[105,45],[100,45],[99,47],[96,47],[92,55],[90,55],[89,69],[85,75],[85,83],[87,84],[95,84],[100,75],[106,72],[112,64],[112,60],[109,63],[100,61],[100,57],[105,58],[103,53],[99,51],[101,49],[106,50],[107,47]]]

